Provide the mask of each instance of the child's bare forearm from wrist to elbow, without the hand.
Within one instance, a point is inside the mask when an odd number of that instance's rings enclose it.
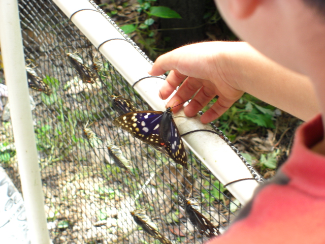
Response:
[[[319,113],[312,83],[306,76],[278,65],[246,43],[241,45],[243,49],[236,58],[225,59],[235,62],[227,67],[237,70],[223,71],[231,73],[224,75],[233,78],[237,89],[303,120]]]

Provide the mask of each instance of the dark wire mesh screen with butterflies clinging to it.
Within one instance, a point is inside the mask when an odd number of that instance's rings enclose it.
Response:
[[[118,96],[150,108],[51,1],[21,0],[19,12],[53,243],[202,243],[222,232],[240,204],[218,179],[191,151],[185,169],[112,124]],[[20,188],[2,119],[2,165]]]

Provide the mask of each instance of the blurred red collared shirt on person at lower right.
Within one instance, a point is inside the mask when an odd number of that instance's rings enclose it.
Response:
[[[292,153],[223,235],[206,244],[325,243],[325,156],[309,148],[323,138],[320,115],[296,132]]]

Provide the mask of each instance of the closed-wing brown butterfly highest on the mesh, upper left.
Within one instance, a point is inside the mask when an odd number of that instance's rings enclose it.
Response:
[[[68,59],[72,66],[76,69],[81,77],[81,80],[85,83],[93,84],[95,83],[96,74],[93,73],[90,68],[83,64],[83,60],[75,53],[67,53]]]

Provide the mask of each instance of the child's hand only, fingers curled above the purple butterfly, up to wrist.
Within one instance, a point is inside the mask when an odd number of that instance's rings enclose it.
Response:
[[[201,117],[202,123],[208,123],[221,116],[243,95],[237,83],[241,75],[234,67],[234,59],[247,46],[242,42],[204,42],[184,46],[159,56],[149,74],[161,75],[171,70],[160,90],[162,99],[168,98],[183,82],[167,106],[180,104],[194,95],[184,109],[187,116],[196,115],[217,95],[217,102]],[[179,108],[175,107],[174,111]]]

